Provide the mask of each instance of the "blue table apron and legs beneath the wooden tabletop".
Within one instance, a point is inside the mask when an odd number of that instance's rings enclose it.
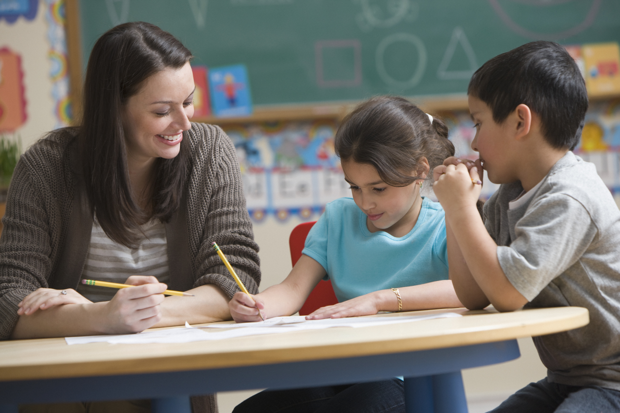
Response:
[[[247,367],[117,376],[0,381],[0,413],[17,404],[153,399],[153,413],[190,413],[189,396],[302,388],[405,377],[407,413],[467,413],[461,369],[520,356],[516,340],[414,352]],[[329,356],[328,356],[329,357]]]

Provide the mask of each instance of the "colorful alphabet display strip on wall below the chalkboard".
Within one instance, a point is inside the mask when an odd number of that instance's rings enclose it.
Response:
[[[476,135],[467,111],[448,111],[441,118],[458,157],[477,159],[471,148]],[[620,99],[590,103],[582,139],[575,154],[596,166],[620,204]],[[285,221],[293,215],[314,220],[325,204],[351,196],[334,151],[335,121],[287,121],[224,125],[237,150],[247,209],[260,222],[268,215]],[[486,173],[480,198],[499,185]],[[435,200],[430,182],[422,195]]]

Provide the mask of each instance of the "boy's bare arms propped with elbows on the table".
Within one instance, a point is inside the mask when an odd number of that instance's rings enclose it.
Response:
[[[439,168],[439,169],[438,169]],[[525,305],[528,300],[513,287],[505,276],[497,258],[497,244],[487,232],[476,207],[480,196],[477,168],[468,172],[466,165],[441,165],[436,168],[438,179],[433,185],[435,194],[446,212],[446,231],[449,227],[463,256],[469,274],[463,271],[459,255],[452,248],[450,255],[456,262],[451,270],[454,290],[467,308],[484,308],[485,300],[480,291],[499,311],[511,311]],[[446,233],[446,235],[448,235]],[[448,242],[450,242],[448,238]],[[449,248],[449,247],[448,247]],[[451,263],[450,263],[451,265]]]

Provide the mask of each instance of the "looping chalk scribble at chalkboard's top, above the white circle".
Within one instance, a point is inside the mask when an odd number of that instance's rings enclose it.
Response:
[[[355,21],[363,32],[370,32],[373,28],[389,28],[403,20],[412,22],[418,17],[420,6],[410,0],[388,0],[384,6],[379,6],[371,0],[358,0],[361,12],[355,16]]]

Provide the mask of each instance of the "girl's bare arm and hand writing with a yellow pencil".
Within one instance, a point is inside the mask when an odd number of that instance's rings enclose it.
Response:
[[[299,311],[312,289],[319,284],[325,274],[327,272],[321,264],[302,254],[284,281],[252,296],[255,305],[246,293],[237,292],[228,303],[232,319],[237,323],[261,321],[259,309],[265,320],[277,316],[290,316]]]

